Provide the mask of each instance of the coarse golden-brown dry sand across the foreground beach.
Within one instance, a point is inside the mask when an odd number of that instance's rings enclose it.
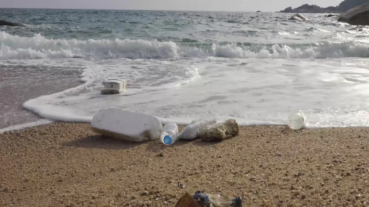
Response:
[[[0,206],[175,206],[196,190],[241,196],[243,206],[369,206],[368,132],[253,126],[173,146],[104,138],[79,123],[6,132]]]

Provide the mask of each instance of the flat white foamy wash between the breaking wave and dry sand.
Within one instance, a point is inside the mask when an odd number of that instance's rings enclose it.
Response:
[[[62,65],[59,61],[50,64]],[[115,106],[156,115],[163,123],[215,117],[235,118],[241,125],[285,124],[291,112],[302,109],[309,128],[369,126],[369,98],[363,95],[369,92],[368,60],[346,61],[351,64],[341,59],[74,59],[68,64],[89,64],[84,85],[23,106],[62,121],[90,122],[99,109]],[[159,72],[149,76],[151,70]],[[109,76],[128,79],[127,91],[100,95],[101,80]]]

